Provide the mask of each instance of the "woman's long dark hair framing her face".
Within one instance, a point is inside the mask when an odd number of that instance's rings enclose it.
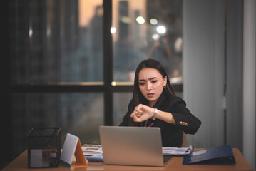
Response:
[[[142,93],[140,92],[139,84],[138,84],[138,73],[143,68],[155,68],[159,71],[159,73],[165,78],[167,77],[167,83],[165,88],[163,88],[164,93],[170,96],[176,96],[175,92],[173,90],[173,87],[170,85],[169,78],[166,74],[165,68],[160,64],[160,62],[156,61],[155,59],[147,59],[138,65],[136,71],[135,71],[135,78],[134,78],[134,88],[133,88],[133,98],[131,100],[130,107],[132,110],[134,110],[135,106],[137,106],[139,103],[143,103],[145,105],[148,105],[148,100],[144,98]]]

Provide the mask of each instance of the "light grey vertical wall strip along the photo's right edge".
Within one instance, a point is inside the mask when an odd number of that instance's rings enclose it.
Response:
[[[255,66],[256,66],[256,3],[244,1],[243,34],[243,155],[255,168]]]

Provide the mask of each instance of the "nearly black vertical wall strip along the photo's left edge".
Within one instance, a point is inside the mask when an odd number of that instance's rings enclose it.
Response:
[[[2,165],[7,164],[9,160],[8,152],[11,150],[11,115],[9,115],[9,66],[5,65],[9,63],[9,21],[6,18],[8,14],[8,3],[9,1],[1,1],[1,67],[0,67],[0,107],[1,107],[1,119],[0,119],[0,134],[1,134],[1,145],[0,145],[0,170]]]

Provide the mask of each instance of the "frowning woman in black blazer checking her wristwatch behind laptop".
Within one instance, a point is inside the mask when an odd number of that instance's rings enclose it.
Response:
[[[195,134],[201,125],[178,98],[163,66],[153,59],[135,71],[133,98],[120,126],[159,127],[163,147],[181,147],[183,132]]]

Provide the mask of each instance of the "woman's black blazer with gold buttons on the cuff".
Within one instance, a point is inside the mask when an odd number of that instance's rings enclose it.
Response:
[[[131,102],[130,102],[131,103]],[[120,126],[129,126],[130,114],[133,113],[134,109],[128,105],[128,112],[123,117],[123,121]],[[162,110],[173,114],[176,125],[166,123],[163,120],[152,119],[148,120],[146,126],[153,123],[152,127],[159,127],[162,136],[163,147],[181,147],[183,143],[183,131],[186,134],[195,134],[201,125],[201,121],[190,113],[190,110],[186,108],[186,103],[182,98],[170,97],[163,93],[160,95],[157,103],[153,106],[158,110]],[[144,126],[145,122],[137,123],[137,126]]]

